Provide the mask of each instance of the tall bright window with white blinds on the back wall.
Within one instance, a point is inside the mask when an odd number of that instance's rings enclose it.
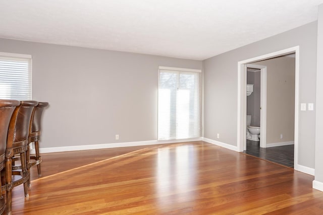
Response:
[[[158,140],[200,137],[200,74],[159,66]]]

